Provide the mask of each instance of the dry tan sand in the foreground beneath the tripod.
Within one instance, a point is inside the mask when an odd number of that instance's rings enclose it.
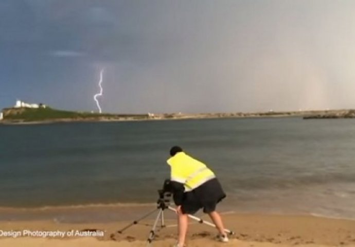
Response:
[[[190,220],[187,246],[355,246],[355,221],[329,219],[314,216],[285,216],[261,214],[224,214],[226,227],[235,231],[229,243],[215,240],[214,228]],[[30,231],[79,231],[101,232],[98,237],[0,237],[0,246],[6,247],[76,247],[76,246],[146,246],[152,220],[139,222],[122,234],[117,230],[129,221],[117,223],[56,223],[52,221],[3,221],[3,232]],[[166,227],[157,231],[152,246],[168,247],[176,239],[176,222],[166,221]]]

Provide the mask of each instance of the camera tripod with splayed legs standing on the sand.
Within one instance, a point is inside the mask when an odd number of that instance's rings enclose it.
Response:
[[[150,246],[152,241],[154,240],[155,229],[156,229],[156,226],[158,225],[159,220],[161,222],[161,228],[165,227],[164,210],[165,209],[169,209],[169,210],[174,211],[176,213],[176,209],[171,207],[171,206],[169,206],[170,205],[171,192],[166,192],[164,190],[158,190],[158,193],[159,193],[159,199],[157,201],[157,208],[156,209],[150,211],[148,214],[144,215],[143,217],[140,217],[139,219],[133,221],[129,225],[123,227],[121,230],[117,231],[117,233],[121,234],[123,231],[127,230],[132,225],[138,224],[139,221],[147,218],[148,216],[150,216],[153,213],[155,213],[156,211],[158,211],[158,214],[157,214],[157,216],[155,218],[153,227],[151,228],[151,230],[149,232],[149,237],[148,237],[148,240],[147,240],[147,246]],[[195,216],[192,216],[192,215],[188,215],[188,217],[193,219],[193,220],[198,221],[201,224],[206,224],[206,225],[209,225],[209,226],[212,226],[212,227],[216,227],[215,224],[212,224],[212,223],[210,223],[208,221],[205,221],[205,220],[203,220],[201,218],[198,218],[198,217],[195,217]],[[234,234],[234,232],[232,232],[232,231],[230,231],[228,229],[225,229],[224,232],[229,234],[229,235],[233,235]]]

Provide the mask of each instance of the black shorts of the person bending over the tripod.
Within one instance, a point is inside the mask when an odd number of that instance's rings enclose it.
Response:
[[[182,211],[184,214],[193,215],[203,208],[203,213],[208,214],[215,211],[217,204],[225,197],[219,181],[212,179],[198,188],[184,193]]]

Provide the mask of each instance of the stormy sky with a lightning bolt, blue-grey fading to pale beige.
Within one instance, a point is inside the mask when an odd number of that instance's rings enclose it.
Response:
[[[355,108],[355,1],[1,0],[0,108]]]

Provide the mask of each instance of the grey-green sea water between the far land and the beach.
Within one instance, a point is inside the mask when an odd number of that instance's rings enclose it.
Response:
[[[0,125],[0,220],[154,205],[174,145],[215,171],[221,210],[355,219],[355,121],[291,117]]]

